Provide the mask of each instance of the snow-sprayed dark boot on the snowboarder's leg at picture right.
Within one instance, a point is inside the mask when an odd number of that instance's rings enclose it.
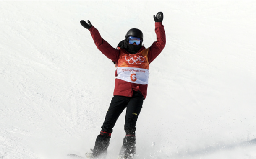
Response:
[[[119,156],[121,159],[132,159],[133,155],[136,154],[136,147],[135,147],[135,136],[133,135],[126,135],[123,138],[123,146],[120,150]]]

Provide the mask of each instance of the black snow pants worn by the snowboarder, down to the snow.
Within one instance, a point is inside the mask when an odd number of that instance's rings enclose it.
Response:
[[[124,97],[115,95],[110,103],[110,107],[107,111],[105,121],[102,125],[102,130],[97,136],[95,141],[95,146],[93,149],[94,156],[99,156],[101,154],[107,154],[107,148],[110,143],[111,133],[113,132],[113,127],[115,126],[118,117],[126,108],[125,115],[125,133],[126,136],[123,140],[123,146],[120,154],[130,153],[135,154],[135,131],[136,122],[138,115],[141,112],[144,97],[141,92],[133,92],[132,97]]]

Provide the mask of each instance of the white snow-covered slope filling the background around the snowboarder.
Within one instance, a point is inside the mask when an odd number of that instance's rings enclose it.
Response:
[[[113,47],[130,28],[167,45],[152,62],[137,159],[256,159],[256,1],[0,1],[0,159],[63,159],[93,148],[115,67],[79,21]],[[124,113],[107,159],[122,144]]]

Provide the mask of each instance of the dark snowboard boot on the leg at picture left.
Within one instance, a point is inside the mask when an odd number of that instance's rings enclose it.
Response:
[[[97,136],[94,149],[91,149],[93,158],[104,158],[110,144],[111,133],[101,132]]]

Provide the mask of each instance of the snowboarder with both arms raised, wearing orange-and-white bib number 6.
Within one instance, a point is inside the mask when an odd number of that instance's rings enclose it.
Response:
[[[92,153],[87,153],[89,158],[102,156],[104,158],[106,156],[112,128],[125,108],[124,129],[126,135],[123,139],[120,156],[132,158],[133,154],[136,153],[136,122],[147,95],[149,64],[161,53],[166,43],[165,30],[162,25],[163,13],[158,12],[153,17],[157,41],[147,49],[142,45],[143,33],[137,28],[130,29],[126,33],[125,39],[118,44],[119,49],[115,49],[101,37],[99,31],[92,26],[89,20],[88,23],[83,20],[80,21],[81,25],[90,31],[97,48],[117,64],[114,97],[111,100],[100,134],[96,138],[94,149],[91,149]]]

